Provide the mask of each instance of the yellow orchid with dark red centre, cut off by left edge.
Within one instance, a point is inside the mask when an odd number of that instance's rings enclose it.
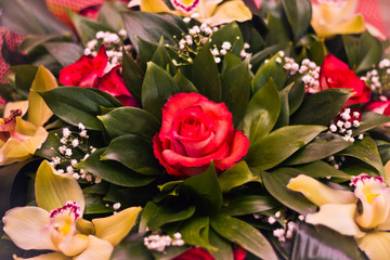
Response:
[[[9,102],[0,118],[0,166],[25,160],[48,136],[42,127],[53,115],[38,91],[56,88],[54,76],[43,66],[38,68],[27,101]],[[22,119],[27,113],[27,120]]]

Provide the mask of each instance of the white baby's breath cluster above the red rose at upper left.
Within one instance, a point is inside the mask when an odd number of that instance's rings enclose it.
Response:
[[[106,54],[108,57],[107,70],[122,63],[122,50],[130,52],[132,47],[130,44],[126,44],[122,47],[123,39],[127,37],[127,32],[125,29],[118,31],[118,34],[110,31],[98,31],[95,35],[95,39],[89,41],[84,49],[84,55],[96,56],[98,51],[102,44],[106,48]]]

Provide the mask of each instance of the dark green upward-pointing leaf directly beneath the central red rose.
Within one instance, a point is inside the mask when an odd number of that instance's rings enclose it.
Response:
[[[185,179],[179,193],[192,197],[195,205],[206,213],[217,212],[222,207],[222,191],[212,162],[205,172]]]

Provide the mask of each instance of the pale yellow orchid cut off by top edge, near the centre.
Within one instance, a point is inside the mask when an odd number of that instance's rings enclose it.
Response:
[[[130,2],[130,6],[133,5],[133,1]],[[171,3],[176,10],[170,10],[164,0],[142,0],[141,3],[134,1],[134,4],[140,4],[141,11],[145,12],[165,12],[182,16],[191,16],[196,13],[198,21],[207,21],[210,26],[251,18],[250,10],[242,0],[171,0]]]

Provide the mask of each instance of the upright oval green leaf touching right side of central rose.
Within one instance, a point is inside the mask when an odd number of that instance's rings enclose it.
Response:
[[[244,133],[251,142],[270,133],[281,113],[281,100],[273,79],[249,101],[244,117]]]

